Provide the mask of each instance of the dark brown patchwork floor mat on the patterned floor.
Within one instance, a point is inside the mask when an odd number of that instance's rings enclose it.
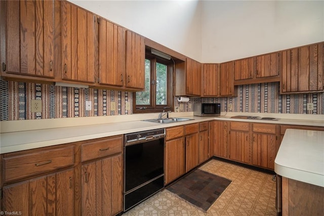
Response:
[[[167,190],[207,211],[231,182],[227,178],[196,169]]]

